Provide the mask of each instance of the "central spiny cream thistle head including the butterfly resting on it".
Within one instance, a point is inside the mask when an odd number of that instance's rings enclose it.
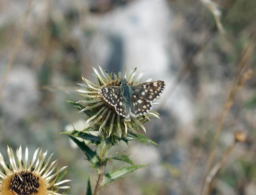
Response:
[[[148,79],[141,83],[140,79],[143,73],[140,73],[135,79],[136,68],[130,70],[124,77],[119,72],[118,76],[114,73],[103,71],[99,66],[101,74],[93,68],[98,83],[93,83],[82,76],[85,84],[79,84],[86,90],[76,90],[85,100],[75,104],[80,112],[88,115],[87,123],[91,126],[97,126],[96,130],[102,130],[108,136],[113,129],[119,137],[122,135],[122,129],[135,131],[135,128],[141,127],[145,132],[143,123],[152,117],[158,117],[158,113],[152,111],[152,105],[158,104],[157,100],[165,89],[163,81],[153,81]]]

